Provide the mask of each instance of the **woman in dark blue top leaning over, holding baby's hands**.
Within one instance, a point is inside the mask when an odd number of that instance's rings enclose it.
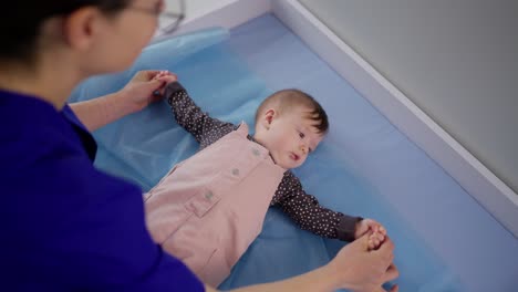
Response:
[[[132,64],[164,1],[2,6],[0,290],[214,291],[152,241],[139,188],[92,165],[96,144],[89,131],[141,111],[175,77],[139,72],[117,93],[66,104],[82,80]],[[393,249],[387,239],[367,251],[361,238],[320,269],[238,291],[383,291],[397,277]]]

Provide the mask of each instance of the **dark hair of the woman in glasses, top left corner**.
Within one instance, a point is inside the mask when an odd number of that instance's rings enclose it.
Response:
[[[38,36],[45,20],[68,15],[84,7],[96,7],[106,14],[126,8],[132,0],[9,0],[0,18],[0,61],[30,62],[38,51]]]

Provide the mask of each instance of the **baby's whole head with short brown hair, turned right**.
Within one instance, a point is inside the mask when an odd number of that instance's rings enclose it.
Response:
[[[313,97],[299,90],[283,90],[259,105],[253,138],[277,165],[291,169],[305,161],[328,128],[328,115]]]

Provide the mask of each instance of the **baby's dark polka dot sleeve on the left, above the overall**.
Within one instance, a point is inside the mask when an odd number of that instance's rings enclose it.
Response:
[[[169,83],[165,91],[167,103],[175,114],[176,122],[189,132],[205,148],[235,129],[235,125],[204,113],[190,98],[187,91],[178,82]]]

